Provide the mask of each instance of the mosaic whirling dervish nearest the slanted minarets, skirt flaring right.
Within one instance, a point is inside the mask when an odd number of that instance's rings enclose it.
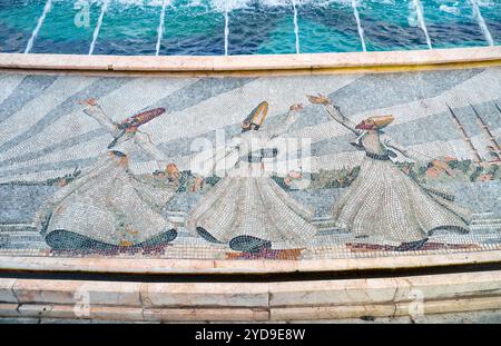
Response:
[[[415,161],[429,161],[382,131],[393,121],[392,116],[370,117],[355,126],[325,96],[308,99],[323,105],[331,118],[354,132],[354,145],[365,151],[358,176],[334,204],[338,227],[361,236],[383,236],[401,251],[420,249],[438,229],[469,231],[471,212],[454,204],[454,196],[419,184],[391,160],[400,152]],[[445,168],[439,160],[432,165]]]

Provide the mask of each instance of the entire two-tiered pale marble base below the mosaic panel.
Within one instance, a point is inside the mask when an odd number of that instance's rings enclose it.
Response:
[[[412,322],[436,314],[501,309],[501,271],[285,283],[0,279],[0,317],[20,322],[312,322],[395,317]]]

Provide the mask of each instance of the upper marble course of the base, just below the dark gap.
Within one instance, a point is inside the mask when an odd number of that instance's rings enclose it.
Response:
[[[281,308],[501,297],[501,271],[284,283],[1,279],[1,303],[143,308]]]

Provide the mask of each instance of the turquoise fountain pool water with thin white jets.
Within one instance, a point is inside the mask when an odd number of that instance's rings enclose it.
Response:
[[[426,33],[432,48],[500,45],[501,0],[0,0],[1,52],[410,50]]]

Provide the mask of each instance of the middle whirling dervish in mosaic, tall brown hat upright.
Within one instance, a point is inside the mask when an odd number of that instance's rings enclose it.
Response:
[[[264,101],[245,119],[242,132],[232,138],[220,155],[224,159],[234,156],[226,165],[227,175],[202,197],[187,217],[188,227],[206,240],[226,244],[242,253],[298,249],[316,234],[308,223],[314,211],[303,207],[271,178],[272,172],[264,169],[263,151],[255,145],[259,142],[271,149],[269,141],[289,129],[302,106],[291,106],[285,121],[261,130],[267,109]],[[216,162],[217,154],[216,150]]]

